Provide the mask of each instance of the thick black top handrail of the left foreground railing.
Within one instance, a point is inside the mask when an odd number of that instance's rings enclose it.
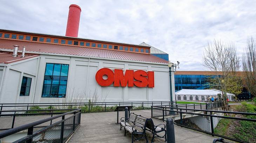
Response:
[[[47,118],[47,119],[43,119],[43,120],[40,120],[40,121],[36,121],[36,122],[33,122],[33,123],[29,123],[29,124],[27,124],[27,125],[23,125],[23,126],[20,126],[20,127],[16,127],[16,128],[12,128],[12,129],[3,131],[3,132],[0,133],[0,138],[3,138],[3,137],[6,137],[6,136],[9,136],[9,135],[18,133],[19,131],[22,131],[22,130],[31,128],[31,127],[33,127],[33,126],[40,125],[40,124],[42,124],[42,123],[45,123],[45,122],[48,122],[48,121],[51,121],[51,120],[60,118],[60,117],[62,117],[62,116],[65,116],[65,115],[67,115],[67,114],[71,114],[71,113],[74,113],[74,112],[77,112],[77,111],[80,112],[81,109],[74,110],[74,111],[70,111],[70,112],[63,113],[63,114],[60,114],[60,115],[57,115],[57,116],[54,116],[54,117],[50,117],[50,118]]]

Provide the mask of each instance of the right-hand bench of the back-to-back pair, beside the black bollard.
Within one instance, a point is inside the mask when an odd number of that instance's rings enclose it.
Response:
[[[159,124],[159,125],[155,126],[153,120],[150,118],[150,119],[148,119],[146,127],[147,127],[146,130],[150,131],[153,134],[151,142],[154,142],[155,137],[161,137],[161,138],[165,139],[165,142],[167,141],[166,140],[166,125]],[[163,136],[158,135],[158,133],[161,133],[163,131],[164,131]]]

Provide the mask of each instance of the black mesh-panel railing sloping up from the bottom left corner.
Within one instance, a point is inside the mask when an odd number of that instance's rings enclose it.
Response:
[[[39,113],[38,115],[43,114]],[[32,114],[31,114],[32,115]],[[27,115],[29,116],[29,115]],[[34,114],[32,116],[35,116]],[[27,129],[27,136],[15,141],[16,143],[32,142],[65,142],[79,127],[81,109],[62,113],[50,118],[28,123],[0,133],[0,139]],[[34,131],[34,128],[41,129]]]

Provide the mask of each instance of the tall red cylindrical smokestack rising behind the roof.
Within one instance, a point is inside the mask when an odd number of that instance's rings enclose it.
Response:
[[[69,6],[66,36],[78,37],[80,14],[81,8],[78,5]]]

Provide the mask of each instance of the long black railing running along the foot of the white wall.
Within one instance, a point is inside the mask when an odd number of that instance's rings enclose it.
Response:
[[[48,109],[77,109],[82,113],[114,111],[116,106],[134,106],[133,110],[150,109],[150,106],[170,105],[170,101],[134,101],[134,102],[87,102],[87,103],[3,103],[0,104],[0,114],[8,113],[2,111],[16,110],[48,110]],[[173,101],[175,104],[175,101]]]

